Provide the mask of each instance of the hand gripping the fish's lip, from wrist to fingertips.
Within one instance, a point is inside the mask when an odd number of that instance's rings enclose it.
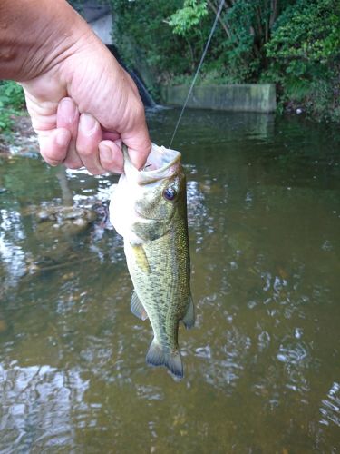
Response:
[[[47,163],[121,173],[121,141],[137,168],[145,163],[151,142],[137,87],[94,35],[23,86]]]

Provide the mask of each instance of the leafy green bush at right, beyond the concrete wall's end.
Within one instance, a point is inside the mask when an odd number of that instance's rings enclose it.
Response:
[[[264,79],[278,84],[282,101],[309,114],[336,119],[340,94],[340,3],[298,0],[280,15]]]

